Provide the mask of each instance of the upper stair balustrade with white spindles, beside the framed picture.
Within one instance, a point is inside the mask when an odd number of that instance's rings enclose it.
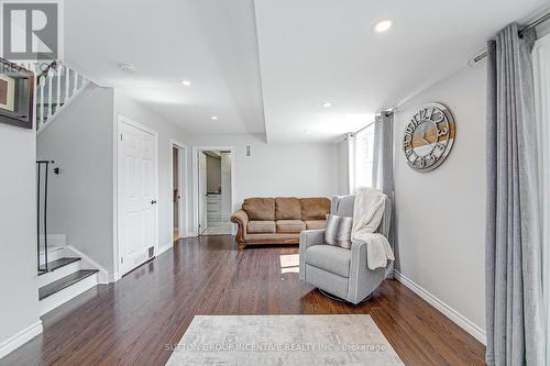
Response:
[[[89,80],[77,70],[56,60],[36,71],[36,131],[41,133]]]

